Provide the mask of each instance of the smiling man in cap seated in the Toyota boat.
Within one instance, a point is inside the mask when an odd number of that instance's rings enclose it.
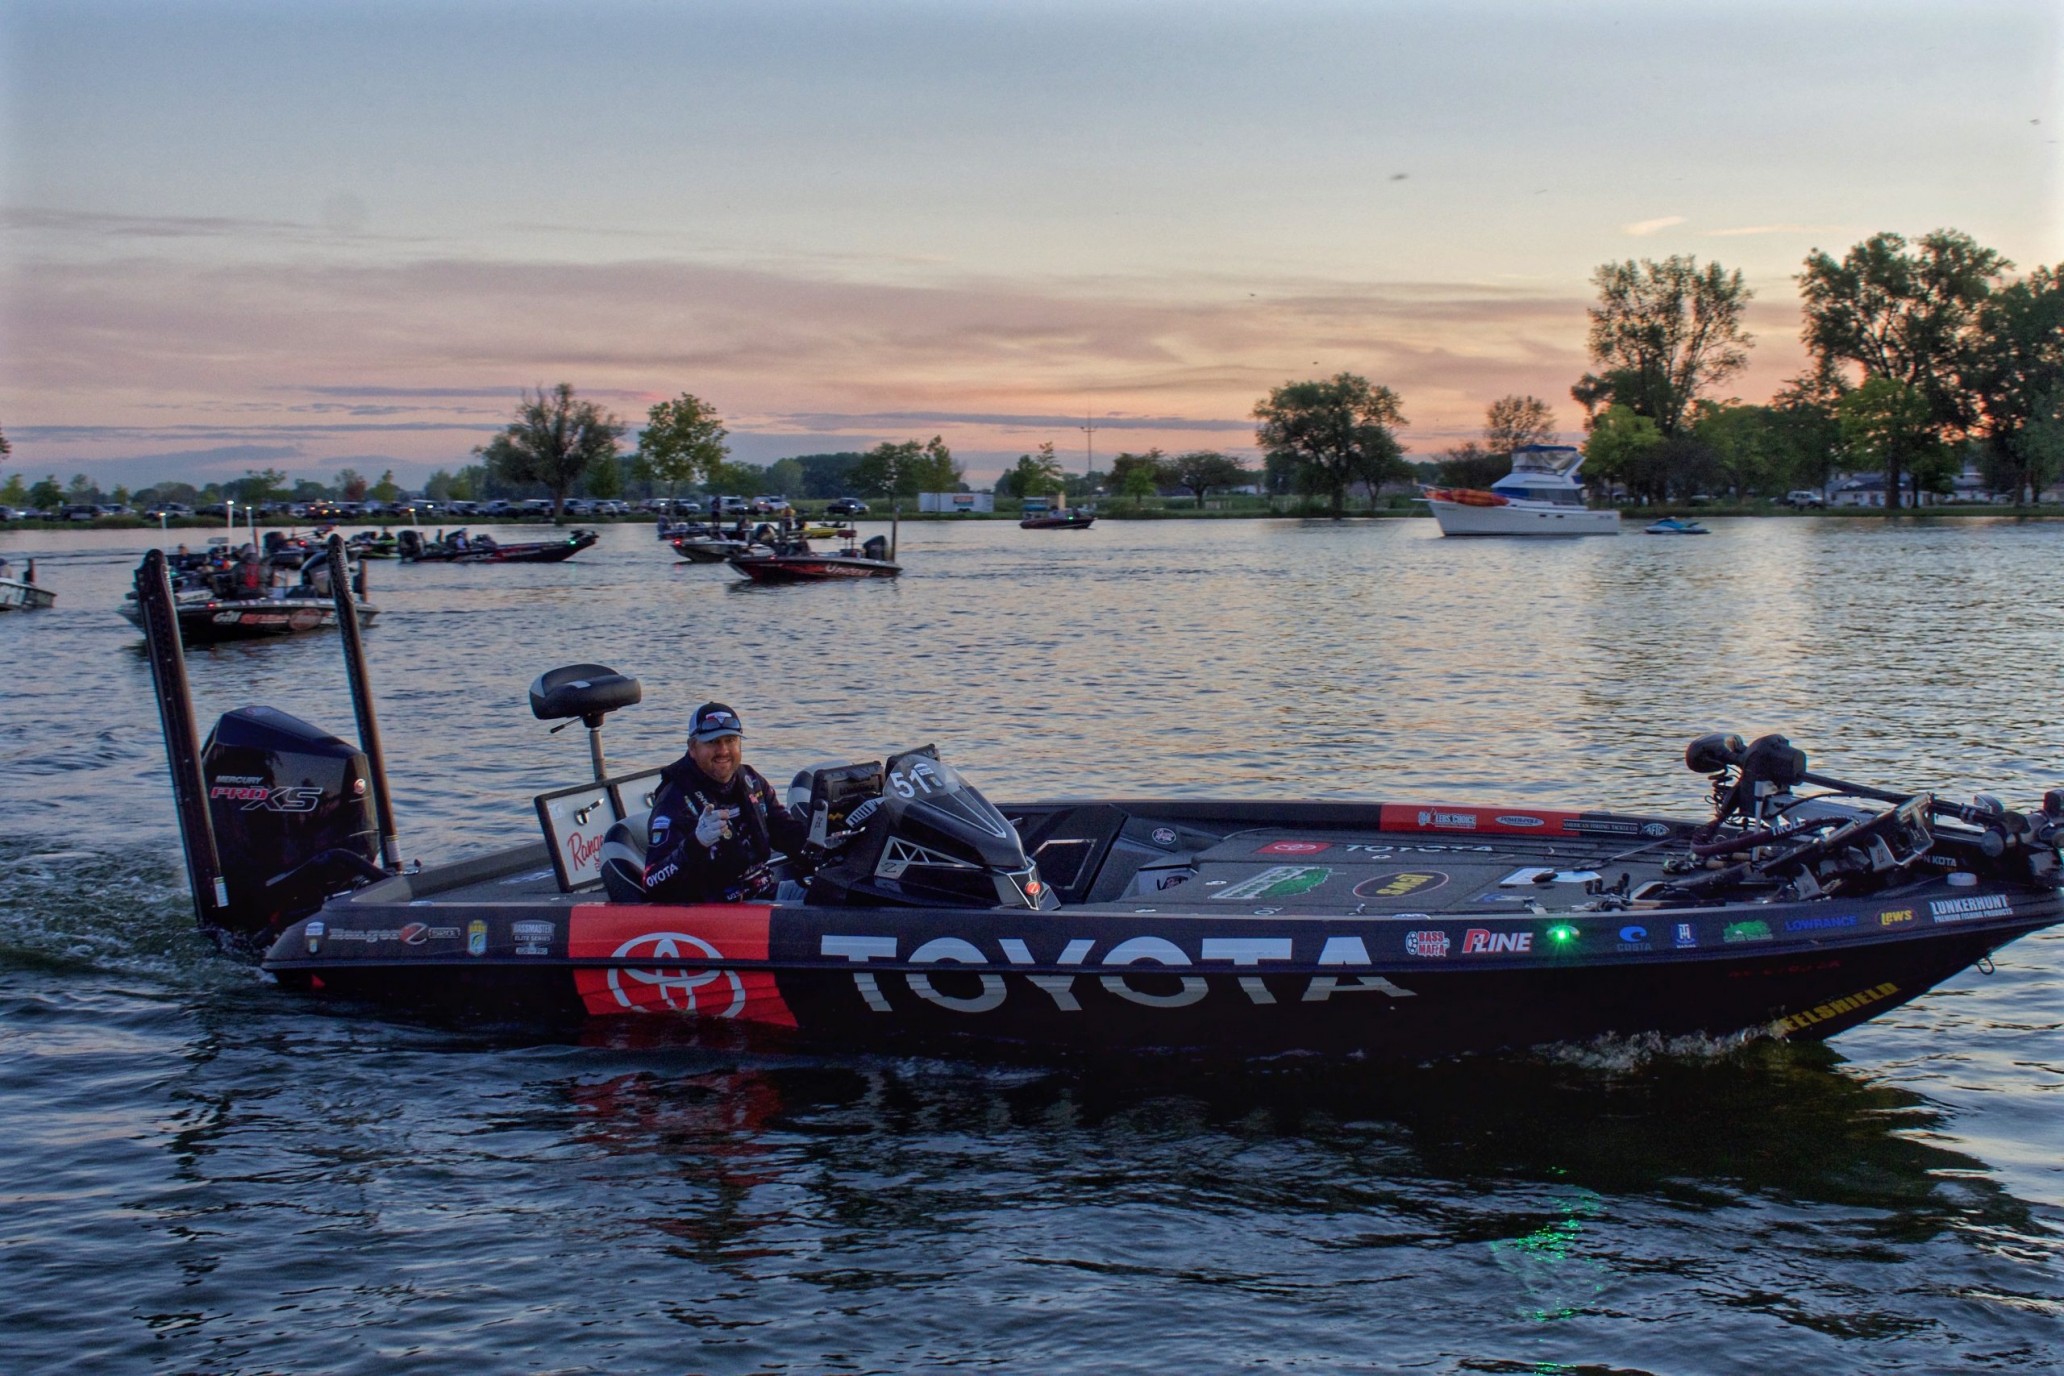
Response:
[[[646,842],[646,897],[735,904],[774,893],[768,858],[799,854],[807,831],[745,763],[745,726],[720,701],[696,708],[687,755],[660,769]]]

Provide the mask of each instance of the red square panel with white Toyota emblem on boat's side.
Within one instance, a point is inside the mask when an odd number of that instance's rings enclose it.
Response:
[[[568,920],[570,959],[611,961],[576,970],[588,1013],[687,1013],[795,1027],[772,970],[727,961],[768,957],[766,904],[578,904]]]

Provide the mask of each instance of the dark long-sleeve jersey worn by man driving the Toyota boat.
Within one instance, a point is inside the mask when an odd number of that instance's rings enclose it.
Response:
[[[716,844],[696,842],[696,823],[714,807],[729,823]],[[774,889],[768,856],[799,854],[807,829],[751,765],[718,784],[681,757],[660,772],[646,840],[646,897],[658,904],[735,904]]]

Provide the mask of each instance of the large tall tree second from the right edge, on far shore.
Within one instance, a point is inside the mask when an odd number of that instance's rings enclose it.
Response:
[[[1853,367],[1862,380],[1905,384],[1924,402],[1932,437],[1957,439],[1979,419],[1965,380],[1979,369],[1979,309],[2008,268],[2006,258],[1957,229],[1936,229],[1911,248],[1903,235],[1878,233],[1839,262],[1814,250],[1798,276],[1806,351],[1823,375]],[[1878,402],[1886,396],[1880,390]],[[1886,514],[1899,510],[1907,452],[1907,444],[1878,450]]]

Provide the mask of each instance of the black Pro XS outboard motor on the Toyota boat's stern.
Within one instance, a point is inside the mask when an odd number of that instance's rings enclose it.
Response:
[[[227,906],[215,924],[264,937],[357,879],[382,879],[372,769],[355,745],[275,708],[225,714],[200,753]]]

